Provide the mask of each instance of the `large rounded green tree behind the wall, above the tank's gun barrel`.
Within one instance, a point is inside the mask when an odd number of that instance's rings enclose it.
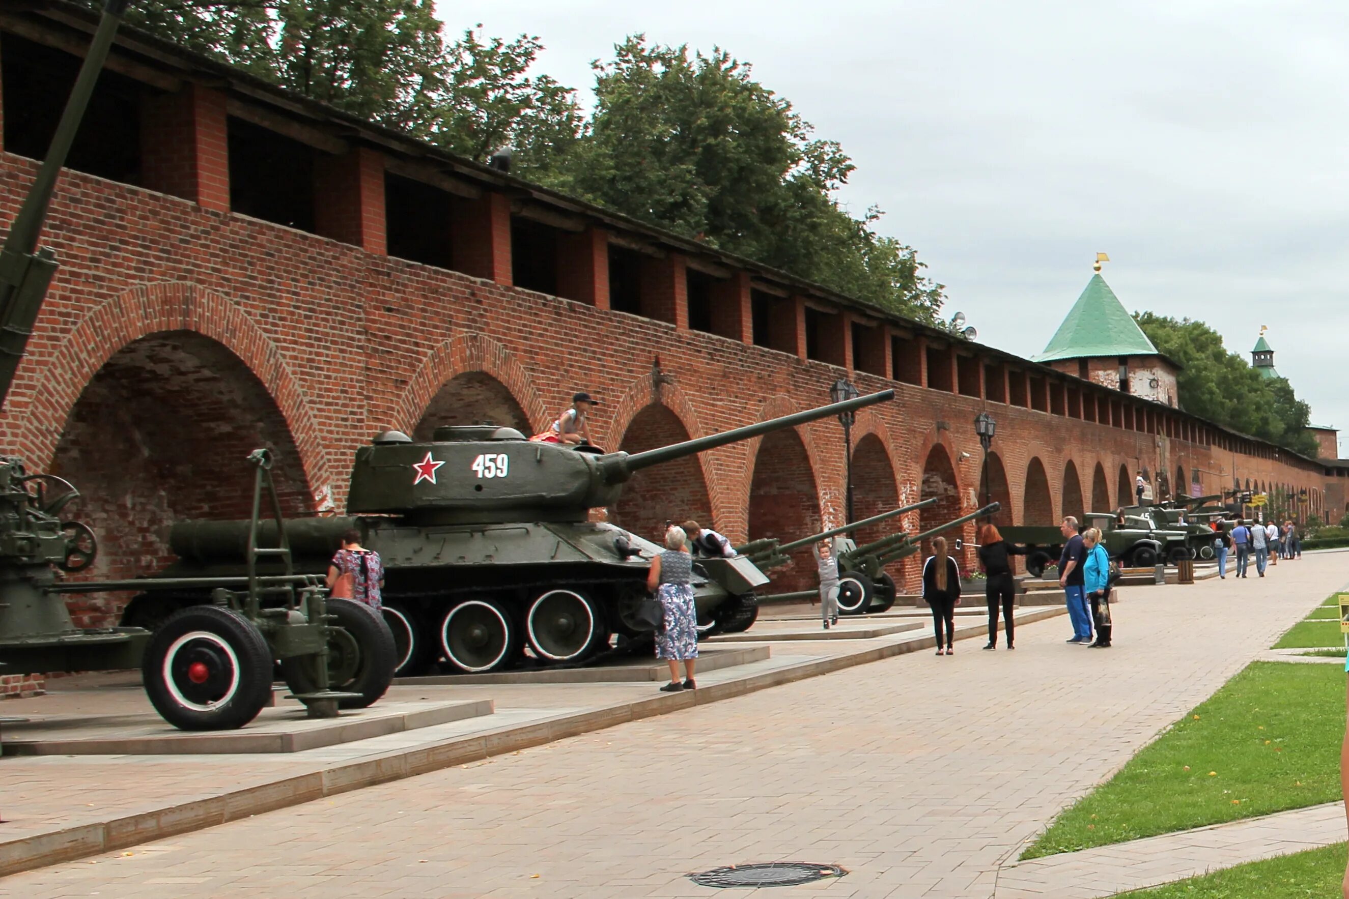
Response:
[[[635,35],[595,63],[596,105],[573,151],[538,175],[634,218],[927,321],[942,286],[912,248],[851,217],[854,170],[792,104],[720,49]]]

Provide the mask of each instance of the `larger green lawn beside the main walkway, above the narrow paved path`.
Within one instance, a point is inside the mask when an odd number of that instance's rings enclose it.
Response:
[[[1336,801],[1344,731],[1340,666],[1255,662],[1063,811],[1021,857]]]

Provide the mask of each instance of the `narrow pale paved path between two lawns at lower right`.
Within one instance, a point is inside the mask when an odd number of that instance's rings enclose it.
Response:
[[[1345,841],[1344,802],[1012,863],[997,899],[1097,899]]]

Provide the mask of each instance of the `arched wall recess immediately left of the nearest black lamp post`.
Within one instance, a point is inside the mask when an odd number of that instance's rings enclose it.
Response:
[[[824,530],[820,499],[805,445],[795,430],[764,437],[754,456],[750,478],[749,538],[776,536],[784,543]],[[773,578],[762,593],[786,593],[819,586],[815,557],[805,546],[792,553],[792,562],[768,571]]]

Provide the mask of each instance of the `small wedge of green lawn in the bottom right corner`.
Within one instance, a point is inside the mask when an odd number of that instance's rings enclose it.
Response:
[[[1340,895],[1345,844],[1226,868],[1114,899],[1330,899]]]

